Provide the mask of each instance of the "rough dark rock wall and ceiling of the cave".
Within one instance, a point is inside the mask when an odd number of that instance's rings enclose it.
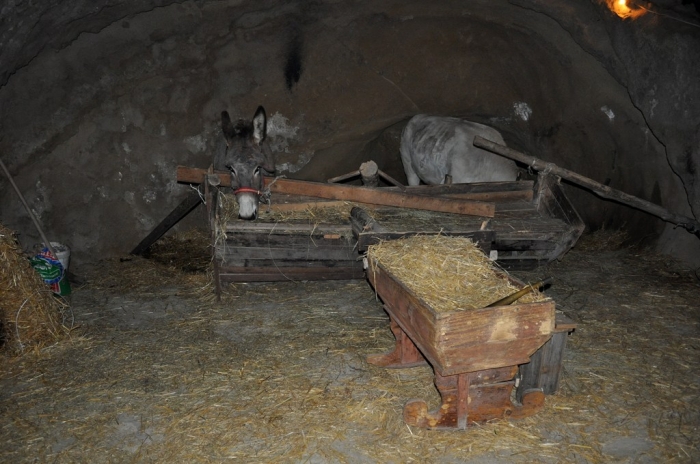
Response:
[[[211,162],[220,112],[259,104],[289,177],[374,159],[402,178],[397,136],[425,112],[491,124],[516,149],[698,216],[700,16],[648,7],[622,19],[584,0],[8,2],[0,156],[78,264],[133,248],[185,195],[175,167]],[[567,190],[591,229],[659,237],[700,264],[695,236]],[[0,208],[38,241],[14,194]]]

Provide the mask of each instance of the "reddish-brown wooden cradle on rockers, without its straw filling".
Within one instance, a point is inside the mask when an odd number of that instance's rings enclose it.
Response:
[[[384,302],[396,344],[390,353],[368,356],[367,361],[387,368],[430,363],[442,399],[432,412],[422,400],[408,401],[407,424],[466,429],[493,419],[526,417],[544,406],[545,393],[535,384],[544,382],[547,374],[533,380],[541,363],[527,380],[531,388],[520,388],[517,402],[513,398],[518,366],[527,365],[556,331],[552,300],[442,312],[381,263],[371,257],[370,261],[367,278]]]

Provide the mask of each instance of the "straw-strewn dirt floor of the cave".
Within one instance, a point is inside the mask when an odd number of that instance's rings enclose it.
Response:
[[[403,423],[438,405],[432,371],[387,370],[388,317],[365,281],[239,284],[221,304],[173,263],[102,263],[75,329],[2,359],[0,462],[698,462],[700,281],[614,238],[515,272],[578,322],[560,391],[519,421]],[[70,322],[70,321],[68,321]]]

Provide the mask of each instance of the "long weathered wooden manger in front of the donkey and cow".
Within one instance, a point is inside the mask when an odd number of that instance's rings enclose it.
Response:
[[[470,237],[501,266],[532,268],[566,253],[584,228],[557,179],[544,174],[537,183],[388,188],[266,178],[274,208],[358,207],[330,222],[261,214],[226,224],[217,214],[227,173],[178,167],[177,179],[204,184],[217,291],[227,281],[362,278],[360,255],[368,245],[415,234]]]

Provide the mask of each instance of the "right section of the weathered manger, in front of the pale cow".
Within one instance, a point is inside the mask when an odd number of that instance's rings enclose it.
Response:
[[[495,212],[489,218],[392,207],[358,209],[352,213],[352,226],[361,251],[381,240],[417,234],[469,236],[485,229],[494,233],[491,249],[501,267],[532,269],[563,256],[585,227],[558,179],[548,174],[540,174],[536,183],[489,182],[406,190],[417,195],[489,201]]]

